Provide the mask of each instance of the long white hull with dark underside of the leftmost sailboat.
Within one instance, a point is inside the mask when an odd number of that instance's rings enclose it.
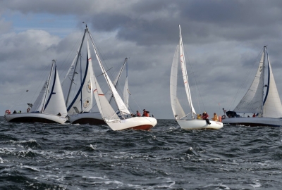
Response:
[[[13,113],[5,114],[4,118],[8,122],[44,122],[44,123],[65,123],[66,118],[59,115],[47,113]]]

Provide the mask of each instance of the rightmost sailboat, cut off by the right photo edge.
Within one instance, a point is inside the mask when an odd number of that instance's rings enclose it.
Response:
[[[268,70],[265,70],[266,64]],[[267,72],[266,80],[264,77],[265,72]],[[259,61],[259,67],[250,88],[235,109],[226,113],[229,118],[223,117],[223,123],[245,126],[282,126],[281,100],[276,88],[266,46],[262,51],[262,58]],[[243,113],[243,116],[245,116],[245,113],[254,113],[255,117],[252,117],[252,115],[250,118],[241,117],[238,113]]]

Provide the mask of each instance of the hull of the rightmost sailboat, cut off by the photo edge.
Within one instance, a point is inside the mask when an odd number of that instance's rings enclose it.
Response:
[[[281,127],[281,118],[226,118],[222,120],[223,123],[229,123],[231,125],[245,125],[245,126],[269,126],[269,127]]]

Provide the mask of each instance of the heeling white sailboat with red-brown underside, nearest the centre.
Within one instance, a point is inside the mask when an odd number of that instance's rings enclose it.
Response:
[[[99,82],[97,81],[96,76],[92,75],[92,81],[93,81],[92,83],[93,91],[92,92],[97,102],[99,112],[101,113],[102,118],[104,119],[106,124],[109,125],[109,127],[111,127],[111,129],[115,131],[123,130],[123,129],[141,129],[141,130],[152,129],[152,127],[157,125],[157,120],[155,118],[131,116],[132,114],[130,113],[130,111],[128,110],[128,107],[125,105],[125,103],[121,99],[121,96],[118,94],[118,91],[116,90],[114,83],[109,78],[109,75],[106,72],[104,65],[102,64],[102,61],[99,57],[99,53],[97,52],[97,48],[94,44],[94,40],[89,30],[88,30],[88,34],[90,36],[97,61],[102,70],[102,74],[104,75],[104,79],[106,80],[106,83],[108,84],[109,89],[111,90],[111,94],[113,96],[114,102],[117,107],[117,110],[114,110],[114,108],[109,103],[108,99],[106,99],[106,97],[104,96],[104,93],[99,86]],[[88,46],[87,52],[88,52],[88,56],[90,56],[89,46]],[[90,56],[90,60],[91,60],[91,56]]]

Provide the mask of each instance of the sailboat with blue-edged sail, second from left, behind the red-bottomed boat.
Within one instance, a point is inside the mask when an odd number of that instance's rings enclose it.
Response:
[[[62,82],[63,94],[66,99],[66,108],[70,116],[70,122],[73,124],[105,124],[99,111],[94,111],[92,98],[92,81],[93,75],[91,58],[86,58],[86,63],[82,64],[82,47],[87,37],[87,29],[83,34],[81,44],[73,59],[73,63],[69,68],[66,77]],[[88,39],[87,39],[88,46]]]

